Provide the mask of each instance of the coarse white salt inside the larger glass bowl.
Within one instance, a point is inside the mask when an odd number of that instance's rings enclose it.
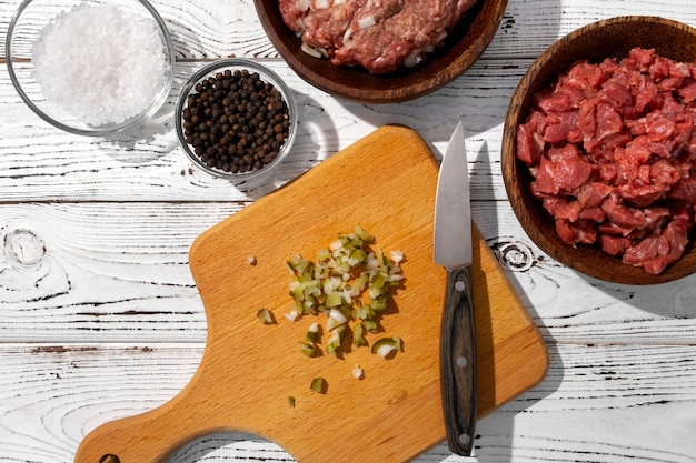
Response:
[[[142,113],[169,71],[155,20],[109,3],[58,14],[34,41],[32,60],[43,97],[95,127]]]

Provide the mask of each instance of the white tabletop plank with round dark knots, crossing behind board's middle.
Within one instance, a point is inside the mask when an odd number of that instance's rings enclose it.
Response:
[[[3,204],[0,342],[205,342],[189,248],[243,205]],[[544,255],[507,202],[476,201],[473,215],[547,341],[696,343],[695,278],[603,283]]]

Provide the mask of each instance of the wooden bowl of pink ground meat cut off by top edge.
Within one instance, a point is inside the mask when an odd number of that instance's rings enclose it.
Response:
[[[455,80],[486,50],[507,7],[507,0],[386,1],[379,11],[344,0],[255,3],[270,41],[298,76],[366,103],[412,100]],[[434,13],[438,9],[446,12]]]

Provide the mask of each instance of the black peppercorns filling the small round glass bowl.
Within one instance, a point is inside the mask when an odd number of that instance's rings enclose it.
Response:
[[[225,70],[198,82],[181,118],[186,141],[201,162],[232,173],[276,159],[290,129],[278,89],[248,70]]]

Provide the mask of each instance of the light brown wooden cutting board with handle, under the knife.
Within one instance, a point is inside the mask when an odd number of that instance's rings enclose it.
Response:
[[[108,454],[120,463],[161,462],[192,439],[230,430],[269,439],[301,463],[405,462],[444,441],[445,270],[432,262],[438,169],[416,132],[386,125],[201,234],[190,252],[208,318],[199,370],[165,405],[95,430],[76,462],[103,462]],[[324,320],[284,316],[292,309],[285,262],[294,253],[314,260],[355,225],[385,251],[406,255],[405,284],[382,319],[385,332],[368,336],[397,334],[402,352],[382,359],[352,348],[342,358],[307,358],[298,341]],[[480,417],[541,381],[548,353],[478,230],[474,239]],[[277,323],[261,324],[261,308]],[[364,379],[352,376],[355,364]],[[310,390],[317,376],[328,383],[324,394]]]

